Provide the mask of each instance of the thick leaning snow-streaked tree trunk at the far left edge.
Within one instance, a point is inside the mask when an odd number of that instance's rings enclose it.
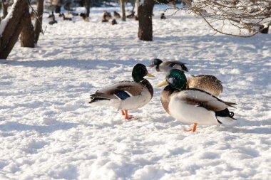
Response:
[[[0,59],[6,59],[9,56],[12,48],[19,38],[21,29],[23,28],[23,18],[26,11],[29,11],[27,0],[17,0],[12,6],[10,13],[11,18],[2,33],[0,38]]]

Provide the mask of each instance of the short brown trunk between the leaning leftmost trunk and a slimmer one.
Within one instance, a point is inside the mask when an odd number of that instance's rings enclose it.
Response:
[[[34,48],[35,47],[34,26],[31,23],[29,11],[26,11],[22,23],[24,27],[21,30],[21,47]]]

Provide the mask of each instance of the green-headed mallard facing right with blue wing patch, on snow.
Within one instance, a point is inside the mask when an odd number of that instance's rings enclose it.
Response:
[[[89,103],[116,107],[129,120],[133,116],[128,116],[128,110],[143,107],[153,97],[153,86],[143,78],[145,76],[154,77],[148,73],[145,65],[138,63],[133,67],[133,81],[124,80],[97,90],[91,95]]]

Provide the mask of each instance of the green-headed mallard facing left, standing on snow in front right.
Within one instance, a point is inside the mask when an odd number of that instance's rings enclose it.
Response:
[[[186,131],[195,132],[197,125],[231,125],[234,113],[227,108],[236,105],[225,102],[204,90],[186,89],[187,79],[181,70],[170,70],[166,80],[158,88],[167,85],[161,92],[161,102],[166,112],[183,123],[193,124]]]

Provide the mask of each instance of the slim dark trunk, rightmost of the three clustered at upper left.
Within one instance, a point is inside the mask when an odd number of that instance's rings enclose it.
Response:
[[[44,14],[44,0],[37,0],[37,14],[38,14],[38,17],[36,17],[35,28],[34,28],[35,43],[38,43],[39,33],[41,33],[42,14]]]

